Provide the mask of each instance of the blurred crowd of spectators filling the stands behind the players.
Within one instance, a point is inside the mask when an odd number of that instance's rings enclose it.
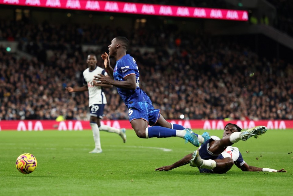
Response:
[[[128,53],[139,66],[140,86],[167,119],[179,119],[182,114],[185,119],[293,119],[293,65],[260,59],[232,41],[176,34],[174,28],[139,28],[130,33],[121,28],[43,23],[23,24],[26,28],[19,31],[16,27],[21,23],[1,21],[0,39],[17,40],[20,50],[36,57],[16,58],[0,49],[2,120],[59,115],[88,120],[87,92],[70,94],[65,87],[82,85],[89,53],[94,52],[98,66],[103,66],[100,54],[118,35],[129,38]],[[82,51],[81,44],[101,49]],[[150,46],[154,51],[137,49]],[[105,118],[128,119],[117,90],[105,89],[105,94]]]

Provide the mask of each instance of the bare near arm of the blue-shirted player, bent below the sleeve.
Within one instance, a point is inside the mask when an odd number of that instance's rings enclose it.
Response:
[[[109,76],[104,76],[103,74],[98,74],[98,76],[94,76],[94,80],[97,81],[97,83],[101,84],[110,84],[118,88],[124,88],[124,89],[130,89],[135,90],[136,89],[136,76],[135,74],[130,74],[124,78],[124,81],[118,81],[113,80]]]

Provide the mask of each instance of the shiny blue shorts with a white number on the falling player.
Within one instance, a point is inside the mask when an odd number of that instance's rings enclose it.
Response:
[[[160,117],[160,109],[154,109],[149,102],[138,102],[128,108],[129,122],[134,119],[144,119],[150,126],[154,126]]]

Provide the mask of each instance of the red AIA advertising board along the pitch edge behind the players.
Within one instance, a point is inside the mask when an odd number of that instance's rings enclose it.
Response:
[[[223,120],[168,120],[170,123],[180,124],[186,128],[204,129],[204,130],[224,130],[227,123],[237,124],[240,128],[246,129],[258,125],[264,125],[268,129],[293,129],[293,120],[259,120],[259,121],[241,121],[232,120],[229,122]],[[115,128],[132,129],[128,120],[104,120],[103,125]],[[78,131],[91,129],[89,121],[67,120],[56,122],[55,120],[4,120],[0,121],[0,131]]]

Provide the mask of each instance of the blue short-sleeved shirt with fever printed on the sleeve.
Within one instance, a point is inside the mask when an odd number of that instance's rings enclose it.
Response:
[[[129,90],[118,88],[118,93],[123,99],[125,105],[129,108],[137,102],[149,102],[150,98],[147,94],[139,88],[139,71],[136,65],[136,61],[130,55],[124,55],[121,59],[116,62],[114,67],[114,80],[125,81],[124,78],[131,74],[135,74],[136,76],[136,89]]]

